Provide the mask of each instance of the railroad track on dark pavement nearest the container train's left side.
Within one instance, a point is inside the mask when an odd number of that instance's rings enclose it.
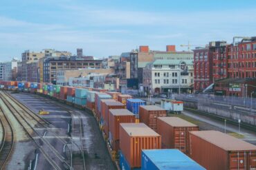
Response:
[[[61,107],[62,109],[64,109],[65,111],[67,111],[71,115],[71,118],[72,118],[72,136],[77,136],[77,134],[78,134],[78,136],[80,137],[80,145],[75,143],[73,141],[73,138],[71,138],[71,147],[70,147],[71,153],[73,151],[73,147],[77,147],[78,149],[80,149],[81,157],[82,157],[82,159],[77,160],[77,158],[73,158],[73,156],[71,154],[71,167],[74,167],[74,165],[75,165],[75,169],[84,169],[84,170],[86,170],[85,157],[84,157],[84,140],[82,138],[83,137],[83,127],[82,127],[81,115],[76,113],[75,111],[73,111],[71,109],[68,109],[64,105],[59,105],[57,103],[53,103],[53,102],[51,102],[49,100],[46,100],[44,98],[41,98],[37,95],[34,95],[34,96],[36,98],[38,98],[39,100],[43,100],[45,103],[53,104],[53,105],[57,105],[57,106]],[[75,122],[75,116],[78,116],[79,123]],[[77,125],[77,126],[75,126],[75,125]],[[75,131],[75,129],[79,129],[79,131],[77,132],[77,131]],[[81,164],[81,162],[82,162],[82,164]]]

